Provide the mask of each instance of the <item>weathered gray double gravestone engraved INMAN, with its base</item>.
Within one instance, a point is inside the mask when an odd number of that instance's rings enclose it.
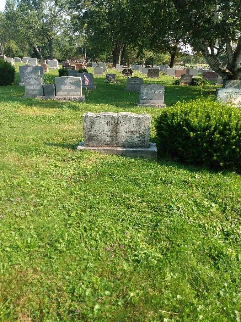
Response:
[[[146,113],[85,113],[84,142],[77,150],[156,158],[156,145],[149,142],[150,119]]]

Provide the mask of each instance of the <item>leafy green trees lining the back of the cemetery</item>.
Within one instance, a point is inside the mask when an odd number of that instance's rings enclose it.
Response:
[[[207,62],[224,80],[239,79],[240,9],[240,0],[7,0],[0,52],[114,65]]]

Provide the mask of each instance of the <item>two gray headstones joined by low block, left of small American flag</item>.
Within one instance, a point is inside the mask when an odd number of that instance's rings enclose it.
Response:
[[[43,84],[43,79],[37,76],[24,77],[25,97],[36,96],[82,96],[81,77],[55,77],[55,84]]]

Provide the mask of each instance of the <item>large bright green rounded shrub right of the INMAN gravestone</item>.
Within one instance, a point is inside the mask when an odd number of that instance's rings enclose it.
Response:
[[[161,150],[185,163],[241,170],[241,109],[212,99],[177,102],[156,119]]]

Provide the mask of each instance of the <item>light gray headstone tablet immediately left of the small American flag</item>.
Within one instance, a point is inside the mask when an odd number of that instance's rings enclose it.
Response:
[[[82,96],[80,77],[55,77],[56,96]]]

